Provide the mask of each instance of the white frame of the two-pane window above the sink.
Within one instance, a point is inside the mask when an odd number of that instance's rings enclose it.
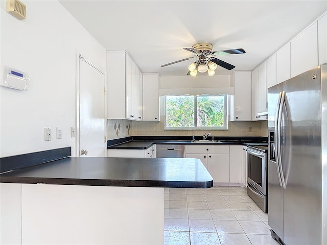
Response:
[[[223,96],[224,97],[224,127],[167,127],[167,96],[194,96],[194,125],[197,125],[197,97],[202,96]],[[219,95],[209,95],[209,94],[201,94],[201,95],[165,95],[165,130],[228,130],[228,115],[227,115],[227,94],[219,94]]]

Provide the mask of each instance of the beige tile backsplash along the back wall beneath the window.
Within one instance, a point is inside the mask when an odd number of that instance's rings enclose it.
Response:
[[[267,120],[229,121],[228,130],[165,130],[165,116],[160,122],[107,119],[108,139],[128,136],[201,136],[211,132],[213,136],[268,136]]]

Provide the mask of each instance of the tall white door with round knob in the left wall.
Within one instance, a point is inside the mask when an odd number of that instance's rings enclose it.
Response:
[[[79,156],[106,156],[104,88],[105,76],[103,72],[80,57]]]

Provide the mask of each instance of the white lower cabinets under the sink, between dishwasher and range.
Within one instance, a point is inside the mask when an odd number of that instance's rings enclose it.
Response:
[[[242,145],[186,145],[185,157],[200,159],[214,183],[242,182]]]

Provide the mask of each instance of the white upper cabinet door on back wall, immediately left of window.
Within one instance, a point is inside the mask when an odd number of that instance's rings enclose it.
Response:
[[[143,120],[160,121],[159,74],[143,74]]]

